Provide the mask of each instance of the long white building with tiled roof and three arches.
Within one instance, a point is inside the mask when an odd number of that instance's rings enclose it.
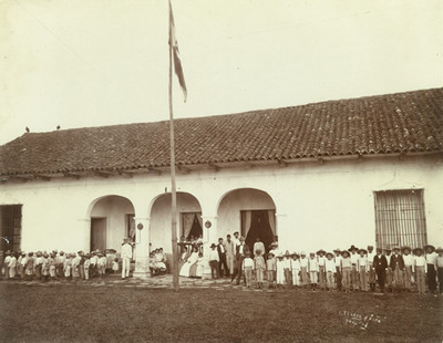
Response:
[[[120,250],[133,237],[148,272],[150,249],[172,251],[168,125],[1,146],[1,249]],[[443,89],[176,119],[175,132],[178,237],[207,247],[240,231],[290,251],[443,243]]]

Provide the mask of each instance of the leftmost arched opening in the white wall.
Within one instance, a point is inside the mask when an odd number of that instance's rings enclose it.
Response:
[[[120,247],[124,238],[135,240],[134,206],[121,196],[105,196],[91,209],[90,249],[104,250]]]

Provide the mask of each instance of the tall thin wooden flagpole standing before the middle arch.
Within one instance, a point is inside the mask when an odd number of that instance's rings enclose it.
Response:
[[[173,287],[178,291],[178,251],[177,251],[177,190],[175,184],[175,138],[173,111],[173,42],[169,2],[169,142],[171,142],[171,242],[173,246]]]

